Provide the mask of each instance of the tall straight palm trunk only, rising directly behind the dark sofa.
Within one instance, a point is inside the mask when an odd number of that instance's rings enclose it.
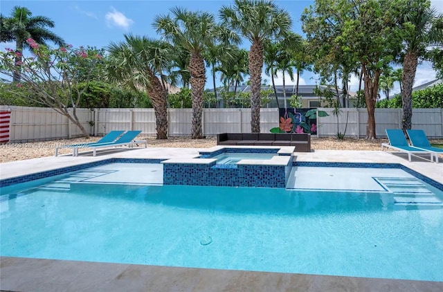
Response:
[[[251,76],[251,132],[260,133],[260,88],[262,87],[263,44],[254,40],[249,51]]]

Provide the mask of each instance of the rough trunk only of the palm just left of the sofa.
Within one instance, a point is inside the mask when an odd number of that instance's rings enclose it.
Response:
[[[200,53],[192,53],[189,60],[189,71],[191,74],[190,84],[192,95],[191,138],[201,139],[204,138],[201,115],[203,113],[203,91],[206,84],[206,69],[204,58]]]

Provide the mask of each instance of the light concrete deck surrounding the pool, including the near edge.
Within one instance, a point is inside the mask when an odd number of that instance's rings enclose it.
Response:
[[[108,158],[195,158],[206,149],[108,149],[93,157],[52,156],[2,163],[0,179]],[[443,183],[443,163],[397,152],[316,150],[295,153],[296,161],[399,163]],[[406,157],[406,158],[405,158]],[[0,257],[1,291],[443,291],[443,282],[262,273],[53,259]]]

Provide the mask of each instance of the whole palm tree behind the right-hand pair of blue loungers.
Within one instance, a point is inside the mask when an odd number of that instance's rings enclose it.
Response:
[[[426,47],[443,43],[443,15],[431,8],[429,0],[406,0],[407,10],[404,12],[404,61],[403,61],[403,104],[402,128],[411,128],[413,107],[412,91],[417,71],[418,60],[424,57]]]

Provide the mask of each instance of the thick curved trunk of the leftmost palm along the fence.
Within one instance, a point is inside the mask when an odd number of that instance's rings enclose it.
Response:
[[[150,86],[147,87],[147,95],[152,100],[155,113],[156,138],[158,140],[168,139],[168,91],[165,89],[158,77],[150,73]]]

